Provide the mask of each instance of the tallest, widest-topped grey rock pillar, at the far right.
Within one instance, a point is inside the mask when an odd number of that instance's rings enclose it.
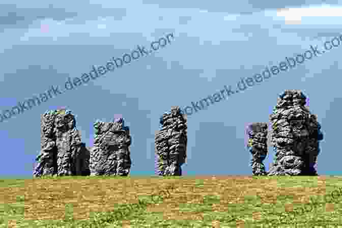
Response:
[[[270,116],[276,158],[269,176],[304,175],[309,169],[308,160],[313,154],[307,147],[312,127],[309,124],[311,113],[305,103],[306,97],[300,91],[287,90],[278,98]]]

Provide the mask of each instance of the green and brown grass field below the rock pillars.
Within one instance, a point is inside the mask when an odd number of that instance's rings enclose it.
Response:
[[[0,228],[342,227],[342,190],[322,197],[338,188],[338,176],[0,179]]]

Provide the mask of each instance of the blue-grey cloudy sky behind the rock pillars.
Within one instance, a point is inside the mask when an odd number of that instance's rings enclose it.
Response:
[[[86,146],[96,120],[122,116],[130,127],[131,176],[154,175],[154,137],[159,117],[236,87],[266,66],[278,65],[342,35],[342,1],[8,1],[0,3],[1,111],[64,87],[92,66],[174,39],[147,56],[49,98],[0,123],[0,177],[31,178],[40,151],[40,115],[66,107],[76,117]],[[284,90],[301,90],[318,116],[324,140],[319,175],[341,175],[338,151],[342,106],[340,46],[244,91],[188,115],[183,175],[251,175],[245,128],[269,122]],[[339,72],[339,73],[338,73]],[[274,152],[264,160],[266,169]]]

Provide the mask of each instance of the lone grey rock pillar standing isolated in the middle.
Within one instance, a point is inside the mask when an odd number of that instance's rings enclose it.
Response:
[[[178,106],[159,119],[160,130],[155,136],[155,153],[159,176],[181,176],[186,158],[187,121]]]

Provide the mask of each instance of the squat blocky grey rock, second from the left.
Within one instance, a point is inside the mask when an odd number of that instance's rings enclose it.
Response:
[[[129,127],[119,118],[114,122],[95,122],[94,147],[91,150],[91,176],[127,176],[131,168]]]

